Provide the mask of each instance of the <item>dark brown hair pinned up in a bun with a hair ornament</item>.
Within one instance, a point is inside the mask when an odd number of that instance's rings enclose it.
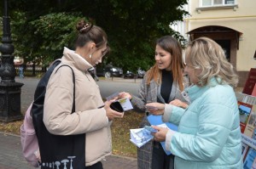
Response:
[[[96,48],[102,48],[108,42],[108,37],[105,31],[97,25],[92,25],[89,22],[80,20],[76,26],[79,31],[79,36],[75,42],[75,48],[83,47],[87,42],[95,42]]]

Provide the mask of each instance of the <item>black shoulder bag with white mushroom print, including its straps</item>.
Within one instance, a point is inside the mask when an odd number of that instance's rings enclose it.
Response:
[[[38,137],[38,145],[41,155],[41,168],[73,168],[85,167],[85,133],[78,135],[60,136],[48,132],[44,126],[44,96],[49,82],[49,76],[55,67],[61,63],[60,59],[49,67],[44,76],[38,82],[32,104],[32,121]],[[69,65],[61,65],[68,66]],[[57,69],[59,70],[61,66]],[[73,69],[70,67],[73,72]],[[56,71],[57,71],[56,70]],[[55,72],[56,72],[55,71]],[[73,72],[73,108],[75,112],[75,76]]]

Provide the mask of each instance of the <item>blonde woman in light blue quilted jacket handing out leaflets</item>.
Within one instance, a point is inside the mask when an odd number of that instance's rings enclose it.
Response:
[[[233,87],[238,77],[214,41],[201,37],[186,49],[185,72],[192,86],[185,89],[191,101],[187,109],[171,104],[151,103],[164,121],[178,125],[178,131],[154,127],[154,140],[166,140],[175,155],[176,169],[241,169],[239,111]]]

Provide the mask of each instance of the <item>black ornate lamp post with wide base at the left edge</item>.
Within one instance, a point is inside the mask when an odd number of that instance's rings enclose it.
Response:
[[[15,82],[14,56],[15,47],[12,44],[10,21],[8,14],[8,0],[3,0],[3,44],[0,45],[0,121],[10,122],[23,118],[20,113],[20,88],[23,83]]]

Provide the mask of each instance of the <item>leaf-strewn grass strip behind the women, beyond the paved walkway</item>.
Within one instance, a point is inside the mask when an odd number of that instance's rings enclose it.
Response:
[[[111,126],[113,155],[137,157],[137,147],[130,142],[130,129],[139,127],[143,120],[143,113],[130,110],[125,112],[123,118],[114,119]],[[10,132],[20,135],[20,126],[23,121],[0,123],[1,132]]]

